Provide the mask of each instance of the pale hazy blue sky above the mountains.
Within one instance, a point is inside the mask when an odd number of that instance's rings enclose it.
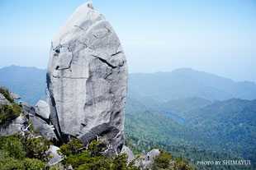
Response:
[[[84,0],[0,0],[0,67],[45,68],[50,42]],[[95,0],[129,72],[192,67],[256,82],[255,0]]]

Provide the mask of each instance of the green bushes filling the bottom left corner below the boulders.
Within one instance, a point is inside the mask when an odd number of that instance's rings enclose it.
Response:
[[[45,161],[50,159],[49,147],[49,140],[32,138],[29,134],[0,136],[0,169],[45,170]]]

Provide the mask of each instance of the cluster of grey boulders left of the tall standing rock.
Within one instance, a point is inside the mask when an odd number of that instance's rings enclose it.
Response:
[[[0,93],[0,108],[2,107],[2,104],[8,104],[12,106],[12,103],[10,103]],[[35,130],[40,133],[40,136],[50,140],[55,145],[59,144],[59,138],[55,134],[55,127],[51,126],[49,124],[50,122],[45,122],[45,120],[49,120],[50,116],[50,107],[48,103],[40,100],[36,104],[36,110],[30,104],[23,101],[20,101],[18,105],[23,108],[23,112],[20,113],[20,116],[14,120],[0,124],[0,136],[11,136],[18,134],[19,132],[24,135],[26,132],[31,132],[28,131],[28,127],[31,126],[30,124],[32,123],[32,126],[34,126]],[[36,113],[36,111],[38,113]]]

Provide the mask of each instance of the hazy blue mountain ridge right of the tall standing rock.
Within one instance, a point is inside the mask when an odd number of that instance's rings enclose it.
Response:
[[[256,99],[256,85],[253,82],[235,82],[191,68],[130,74],[128,87],[128,95],[134,99],[161,102],[192,97],[209,100]]]

